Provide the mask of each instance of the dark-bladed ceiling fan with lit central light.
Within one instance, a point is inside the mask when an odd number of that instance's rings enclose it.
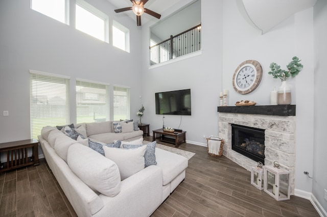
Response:
[[[141,25],[141,15],[143,13],[147,13],[150,14],[151,16],[154,16],[155,18],[160,19],[161,15],[151,11],[147,8],[144,8],[144,5],[149,1],[149,0],[140,0],[140,1],[135,1],[135,0],[130,0],[133,3],[132,7],[128,7],[128,8],[121,8],[121,9],[116,9],[114,10],[116,13],[120,13],[123,11],[130,11],[133,10],[134,14],[136,14],[136,23],[137,26]]]

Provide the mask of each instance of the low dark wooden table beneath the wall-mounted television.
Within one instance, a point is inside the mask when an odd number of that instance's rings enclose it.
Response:
[[[180,144],[186,142],[186,131],[182,132],[167,132],[164,129],[153,130],[152,142],[156,139],[160,139],[162,142],[175,144],[178,147]]]

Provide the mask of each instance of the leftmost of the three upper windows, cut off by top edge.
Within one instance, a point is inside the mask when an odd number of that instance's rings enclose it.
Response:
[[[69,0],[31,0],[31,9],[68,24]]]

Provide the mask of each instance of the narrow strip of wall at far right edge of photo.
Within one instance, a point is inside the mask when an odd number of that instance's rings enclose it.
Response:
[[[312,193],[327,212],[323,189],[327,189],[326,93],[327,93],[327,1],[318,0],[314,7],[314,159]],[[325,215],[327,213],[325,212]]]

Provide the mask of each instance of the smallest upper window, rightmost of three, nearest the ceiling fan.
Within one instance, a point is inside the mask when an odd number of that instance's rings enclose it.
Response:
[[[115,20],[112,21],[112,45],[129,52],[129,29]]]

